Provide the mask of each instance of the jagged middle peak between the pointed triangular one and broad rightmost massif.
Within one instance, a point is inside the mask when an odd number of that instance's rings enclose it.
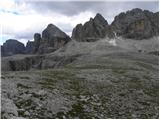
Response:
[[[107,34],[110,32],[111,34]],[[72,32],[72,39],[76,41],[97,41],[101,38],[112,37],[113,33],[110,30],[108,22],[101,14],[97,14],[94,18],[90,18],[84,25],[78,24]]]

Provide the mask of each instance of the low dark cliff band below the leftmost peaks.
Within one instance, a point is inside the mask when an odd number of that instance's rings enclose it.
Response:
[[[41,69],[43,55],[22,55],[2,58],[3,71],[24,71],[30,69]]]

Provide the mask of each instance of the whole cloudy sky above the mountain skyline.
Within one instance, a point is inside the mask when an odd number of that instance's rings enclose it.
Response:
[[[64,1],[52,0],[0,0],[0,44],[7,39],[23,43],[33,40],[34,33],[41,33],[49,23],[71,35],[78,23],[84,23],[96,13],[110,24],[116,15],[133,8],[159,11],[158,1]]]

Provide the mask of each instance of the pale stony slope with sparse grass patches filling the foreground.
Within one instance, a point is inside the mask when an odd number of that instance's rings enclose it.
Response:
[[[159,117],[158,56],[102,40],[44,58],[43,70],[2,71],[2,118]]]

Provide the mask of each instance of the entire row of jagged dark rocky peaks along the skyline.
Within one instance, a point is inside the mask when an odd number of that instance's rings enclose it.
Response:
[[[71,40],[94,42],[103,38],[149,39],[159,35],[159,12],[153,13],[139,8],[122,12],[109,25],[100,14],[90,18],[84,25],[78,24],[71,38],[53,24],[49,24],[40,33],[34,34],[34,41],[28,41],[26,47],[17,40],[9,39],[1,46],[1,55],[45,54],[54,52]]]

